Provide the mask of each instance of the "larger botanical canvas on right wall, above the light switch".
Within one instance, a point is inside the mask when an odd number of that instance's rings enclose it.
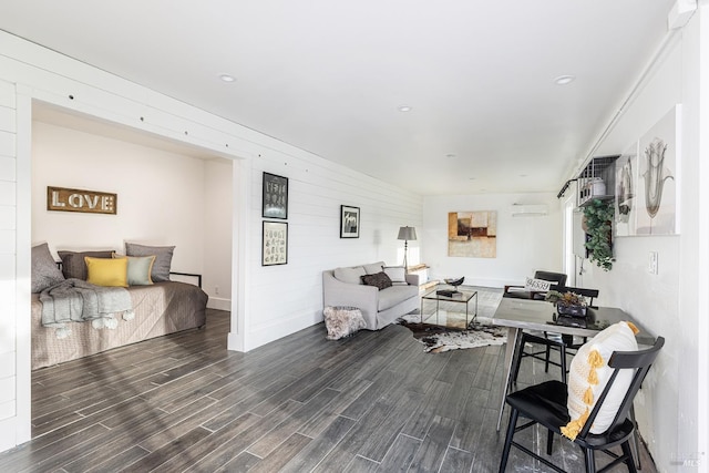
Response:
[[[679,234],[680,105],[675,105],[640,138],[636,235]]]

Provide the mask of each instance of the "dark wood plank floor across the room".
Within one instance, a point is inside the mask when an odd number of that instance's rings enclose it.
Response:
[[[0,471],[496,471],[504,347],[430,354],[402,326],[327,341],[318,325],[239,353],[228,317],[34,371],[33,440]],[[525,363],[521,383],[544,379]],[[553,459],[583,470],[563,440]],[[547,470],[513,451],[507,471]]]

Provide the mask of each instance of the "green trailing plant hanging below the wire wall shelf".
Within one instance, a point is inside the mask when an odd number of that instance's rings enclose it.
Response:
[[[586,249],[589,257],[599,268],[608,271],[613,268],[613,200],[594,198],[584,207],[586,224]]]

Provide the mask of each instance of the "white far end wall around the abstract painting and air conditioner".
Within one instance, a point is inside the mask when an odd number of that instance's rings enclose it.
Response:
[[[513,204],[546,204],[548,215],[513,217]],[[449,212],[496,210],[497,257],[448,256]],[[552,194],[484,194],[424,198],[424,261],[434,279],[465,276],[465,284],[487,287],[524,284],[537,269],[562,270],[562,217]]]

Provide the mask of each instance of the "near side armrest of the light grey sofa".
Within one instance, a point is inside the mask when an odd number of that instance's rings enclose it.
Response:
[[[332,276],[332,271],[322,271],[322,305],[357,307],[364,317],[367,328],[377,329],[379,289],[374,286],[342,282]]]

